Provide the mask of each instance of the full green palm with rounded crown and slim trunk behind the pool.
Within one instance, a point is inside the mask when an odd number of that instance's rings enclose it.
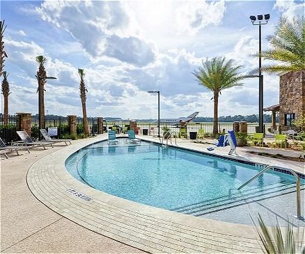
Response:
[[[199,85],[207,87],[213,92],[214,99],[214,126],[213,135],[218,133],[218,99],[221,91],[237,85],[244,77],[240,75],[241,66],[233,66],[233,60],[225,57],[214,57],[202,62],[203,66],[194,71]]]

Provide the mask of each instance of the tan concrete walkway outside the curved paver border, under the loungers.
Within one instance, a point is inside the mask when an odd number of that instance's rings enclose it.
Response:
[[[1,253],[143,253],[77,225],[33,196],[26,174],[33,162],[64,146],[54,147],[8,153],[8,160],[1,155]]]

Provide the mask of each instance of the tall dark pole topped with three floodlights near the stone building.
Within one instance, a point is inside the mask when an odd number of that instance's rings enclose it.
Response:
[[[256,16],[250,16],[251,22],[253,26],[258,26],[258,75],[255,76],[246,76],[246,78],[254,78],[258,77],[258,122],[260,126],[260,133],[263,133],[263,125],[264,125],[264,119],[263,119],[263,83],[264,83],[264,76],[262,75],[262,25],[265,25],[268,23],[268,20],[270,19],[270,15],[258,15]]]

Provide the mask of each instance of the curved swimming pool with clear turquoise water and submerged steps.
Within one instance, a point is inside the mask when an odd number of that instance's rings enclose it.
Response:
[[[264,202],[279,214],[295,212],[295,178],[286,173],[267,171],[239,192],[261,167],[118,140],[118,146],[100,142],[81,149],[66,160],[66,169],[102,192],[198,217],[251,224],[249,214],[262,212]]]

